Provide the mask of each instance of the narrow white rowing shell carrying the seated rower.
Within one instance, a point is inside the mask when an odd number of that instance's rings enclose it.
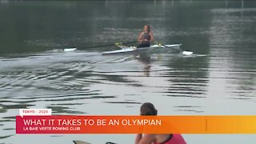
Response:
[[[179,48],[182,44],[174,44],[174,45],[152,45],[150,47],[140,47],[137,48],[135,46],[118,46],[122,50],[113,50],[113,51],[106,51],[102,54],[124,54],[124,53],[139,53],[143,51],[155,51],[155,50],[167,50],[171,48]]]

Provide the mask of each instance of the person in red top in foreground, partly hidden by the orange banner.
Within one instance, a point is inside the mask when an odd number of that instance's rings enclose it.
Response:
[[[150,102],[143,103],[141,115],[157,115],[158,110]],[[186,144],[181,134],[137,134],[135,144]]]

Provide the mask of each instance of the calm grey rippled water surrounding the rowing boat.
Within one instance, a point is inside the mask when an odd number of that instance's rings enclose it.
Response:
[[[134,134],[15,134],[19,108],[139,114],[153,102],[159,114],[255,114],[255,2],[0,2],[0,143],[134,142]],[[134,41],[146,24],[158,42],[194,54],[102,56],[117,48],[97,45]],[[256,142],[254,134],[184,138]]]

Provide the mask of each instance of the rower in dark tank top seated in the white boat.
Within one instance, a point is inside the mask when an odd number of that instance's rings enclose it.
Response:
[[[154,36],[150,31],[150,26],[144,26],[144,30],[138,36],[138,42],[140,45],[138,47],[150,47],[150,42],[154,41]]]

